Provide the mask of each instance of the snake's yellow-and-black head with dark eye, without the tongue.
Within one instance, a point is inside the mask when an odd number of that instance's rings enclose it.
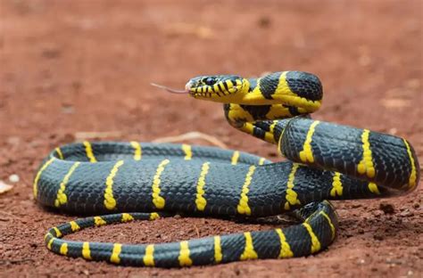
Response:
[[[222,102],[236,93],[245,92],[248,86],[249,82],[245,78],[220,75],[191,78],[185,89],[197,99]]]

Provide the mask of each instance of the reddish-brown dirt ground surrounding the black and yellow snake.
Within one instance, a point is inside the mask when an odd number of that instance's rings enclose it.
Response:
[[[38,206],[31,184],[48,151],[87,131],[145,142],[202,131],[230,148],[274,159],[275,146],[229,127],[220,104],[149,86],[182,87],[212,73],[313,72],[325,86],[316,119],[404,136],[423,161],[421,8],[419,0],[0,0],[0,179],[21,177],[0,195],[0,274],[419,277],[421,186],[401,198],[336,202],[340,235],[310,258],[162,270],[49,252],[46,229],[73,217]],[[74,238],[161,242],[263,228],[170,218]]]

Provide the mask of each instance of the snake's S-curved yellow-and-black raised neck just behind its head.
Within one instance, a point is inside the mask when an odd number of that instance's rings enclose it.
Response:
[[[235,94],[215,100],[224,102],[231,126],[269,143],[278,143],[289,118],[319,109],[322,86],[319,78],[300,71],[270,73],[244,78]]]

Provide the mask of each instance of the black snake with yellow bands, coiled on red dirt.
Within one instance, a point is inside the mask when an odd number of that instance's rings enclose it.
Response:
[[[419,161],[407,140],[311,119],[323,96],[311,73],[200,76],[185,90],[162,88],[223,103],[232,127],[276,144],[286,160],[187,143],[62,145],[38,168],[34,197],[45,207],[85,217],[49,229],[47,249],[71,258],[157,267],[311,256],[336,239],[339,225],[330,200],[393,197],[419,184]],[[247,221],[288,213],[297,223],[154,244],[64,238],[88,227],[177,213]]]

